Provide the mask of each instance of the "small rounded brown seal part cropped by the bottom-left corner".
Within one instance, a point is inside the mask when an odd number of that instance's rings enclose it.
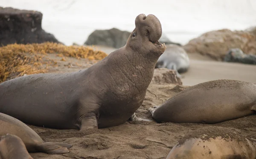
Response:
[[[33,159],[23,141],[16,135],[6,134],[0,139],[0,159]]]

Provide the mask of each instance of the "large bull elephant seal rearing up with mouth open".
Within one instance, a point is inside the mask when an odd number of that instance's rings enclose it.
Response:
[[[140,14],[125,46],[87,69],[26,75],[0,84],[0,112],[55,129],[111,127],[134,120],[166,46],[160,21]]]

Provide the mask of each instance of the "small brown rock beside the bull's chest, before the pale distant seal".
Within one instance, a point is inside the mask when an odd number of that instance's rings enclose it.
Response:
[[[172,69],[167,69],[167,68],[155,69],[151,83],[182,85],[182,81],[180,78],[177,77],[176,71]]]

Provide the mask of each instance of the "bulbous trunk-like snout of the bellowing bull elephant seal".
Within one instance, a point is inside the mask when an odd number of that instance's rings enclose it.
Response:
[[[162,36],[162,26],[160,20],[153,14],[140,14],[135,19],[135,25],[144,35],[148,36],[148,40],[157,43]]]

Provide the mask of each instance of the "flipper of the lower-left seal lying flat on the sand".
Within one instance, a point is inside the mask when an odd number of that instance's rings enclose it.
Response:
[[[42,144],[37,145],[37,149],[39,152],[43,153],[54,153],[54,154],[61,154],[61,153],[69,153],[67,147],[62,147],[59,145],[55,145],[55,143],[45,142]]]

